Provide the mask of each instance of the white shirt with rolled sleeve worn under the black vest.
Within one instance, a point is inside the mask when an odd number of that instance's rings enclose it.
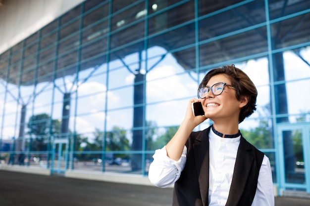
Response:
[[[209,206],[225,206],[232,181],[240,136],[222,138],[212,129],[209,133]],[[165,146],[156,150],[150,165],[149,179],[157,187],[169,187],[180,177],[186,163],[187,148],[181,158],[167,157]],[[274,206],[272,174],[269,159],[264,156],[258,175],[257,191],[252,206]]]

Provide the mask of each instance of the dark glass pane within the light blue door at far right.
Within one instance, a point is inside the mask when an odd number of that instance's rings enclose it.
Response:
[[[302,129],[282,131],[286,183],[305,184],[302,135]]]

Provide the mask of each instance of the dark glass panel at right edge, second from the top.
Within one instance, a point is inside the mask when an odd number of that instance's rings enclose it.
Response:
[[[272,48],[308,43],[310,41],[309,25],[309,13],[271,24]]]

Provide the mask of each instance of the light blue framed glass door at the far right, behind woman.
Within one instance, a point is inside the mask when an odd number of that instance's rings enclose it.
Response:
[[[279,124],[280,194],[285,190],[310,193],[310,124]]]

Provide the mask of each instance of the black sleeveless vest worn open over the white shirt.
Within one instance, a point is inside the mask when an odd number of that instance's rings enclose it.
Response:
[[[187,160],[174,183],[172,206],[208,205],[210,128],[192,132],[186,143]],[[264,154],[241,135],[226,206],[251,206],[263,157]]]

